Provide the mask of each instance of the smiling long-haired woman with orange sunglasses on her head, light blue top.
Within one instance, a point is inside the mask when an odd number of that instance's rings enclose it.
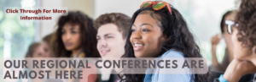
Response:
[[[131,24],[123,57],[202,57],[183,16],[169,3],[144,2]],[[207,82],[207,74],[124,74],[121,81]]]

